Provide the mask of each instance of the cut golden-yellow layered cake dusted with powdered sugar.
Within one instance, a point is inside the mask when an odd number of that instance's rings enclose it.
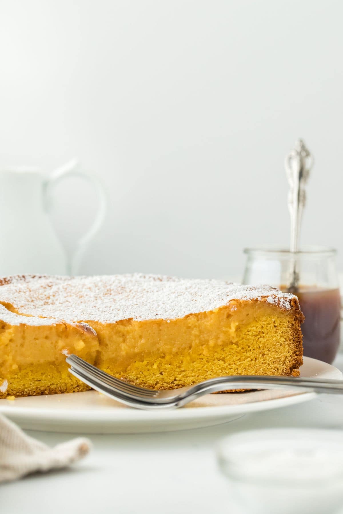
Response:
[[[71,353],[176,389],[223,375],[299,375],[297,297],[269,286],[143,274],[0,279],[0,397],[84,391]]]

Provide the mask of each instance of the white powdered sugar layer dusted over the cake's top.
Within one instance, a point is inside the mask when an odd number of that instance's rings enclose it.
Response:
[[[213,310],[230,300],[267,301],[287,310],[295,298],[270,286],[138,273],[72,278],[15,276],[0,279],[0,285],[0,302],[25,315],[0,305],[0,319],[30,325],[175,319]]]

